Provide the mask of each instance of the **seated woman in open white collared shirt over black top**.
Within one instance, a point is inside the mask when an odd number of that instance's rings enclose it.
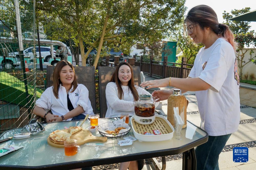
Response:
[[[36,101],[33,113],[46,118],[47,123],[81,120],[87,114],[94,114],[88,96],[87,88],[77,84],[72,64],[61,60],[53,72],[53,86],[47,88]]]

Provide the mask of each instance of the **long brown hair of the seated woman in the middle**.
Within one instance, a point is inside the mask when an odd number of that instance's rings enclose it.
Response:
[[[119,80],[118,78],[118,71],[119,71],[119,68],[122,66],[122,65],[127,65],[130,67],[131,69],[131,79],[129,80],[128,82],[128,87],[129,89],[131,90],[131,93],[133,95],[133,98],[135,101],[139,100],[139,94],[136,90],[136,88],[134,87],[134,80],[133,80],[133,70],[131,68],[131,65],[129,63],[126,63],[126,62],[122,62],[120,64],[118,64],[118,66],[116,67],[116,70],[114,72],[114,74],[112,75],[111,77],[111,80],[110,82],[115,82],[116,85],[117,85],[117,89],[118,89],[118,98],[121,100],[123,98],[123,95],[124,95],[124,92],[123,92],[123,89],[121,87],[121,81]]]

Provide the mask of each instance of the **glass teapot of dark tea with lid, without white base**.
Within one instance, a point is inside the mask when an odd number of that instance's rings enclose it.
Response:
[[[153,101],[151,100],[153,98]],[[150,94],[140,94],[139,100],[134,102],[135,115],[151,117],[155,115],[156,100]]]

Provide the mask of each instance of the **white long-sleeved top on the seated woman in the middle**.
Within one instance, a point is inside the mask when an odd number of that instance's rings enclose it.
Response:
[[[148,91],[135,86],[138,94],[150,94]],[[122,86],[124,95],[123,100],[118,98],[118,89],[115,82],[109,82],[106,86],[107,113],[105,117],[118,117],[120,113],[125,112],[130,116],[134,115],[134,97],[129,86]]]

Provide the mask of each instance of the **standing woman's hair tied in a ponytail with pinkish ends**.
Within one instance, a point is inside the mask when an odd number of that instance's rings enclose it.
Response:
[[[234,34],[226,24],[218,22],[217,14],[207,5],[197,5],[188,11],[185,22],[189,21],[193,24],[198,24],[201,29],[210,28],[219,37],[228,41],[232,47],[236,48],[237,43],[234,41]]]

